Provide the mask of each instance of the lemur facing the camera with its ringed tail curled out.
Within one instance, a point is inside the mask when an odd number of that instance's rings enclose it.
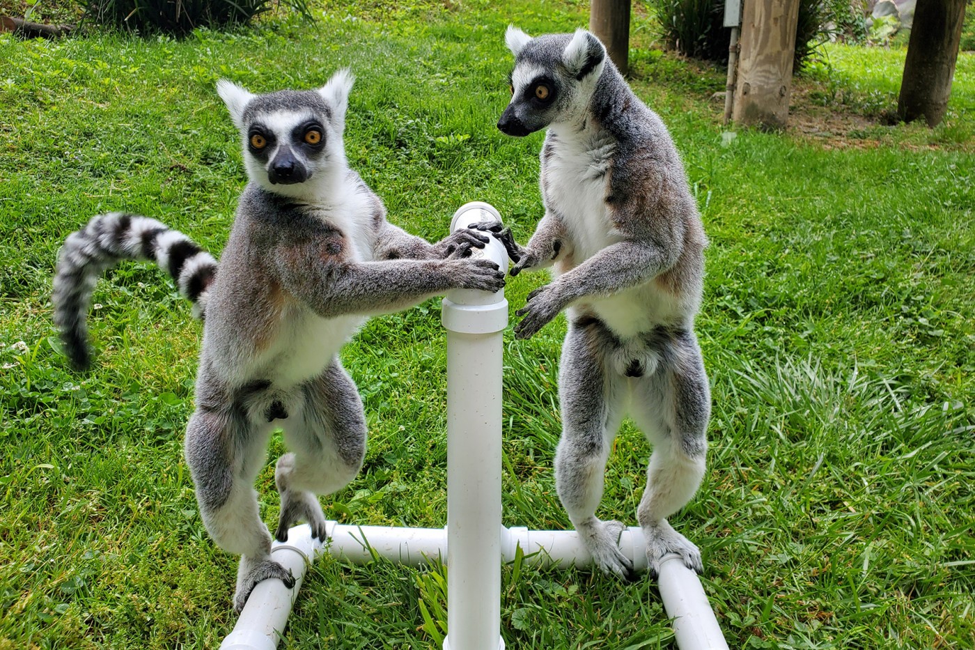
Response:
[[[185,455],[203,521],[217,545],[240,553],[240,611],[266,578],[292,585],[271,559],[254,479],[275,427],[276,537],[304,519],[326,535],[316,495],[346,485],[366,449],[366,418],[342,345],[373,314],[449,289],[497,291],[504,272],[470,257],[487,235],[458,231],[437,244],[388,223],[385,208],[349,169],[342,133],[352,77],[317,91],[217,91],[240,130],[250,183],[219,263],[185,235],[144,217],[95,218],[70,235],[55,279],[55,319],[78,366],[89,362],[85,314],[98,274],[124,258],[168,268],[204,315],[196,410]]]

